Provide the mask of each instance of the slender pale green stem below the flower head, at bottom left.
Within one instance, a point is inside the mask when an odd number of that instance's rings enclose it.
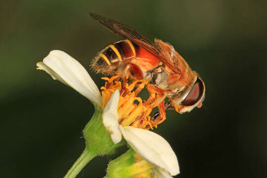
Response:
[[[91,161],[91,159],[96,156],[98,156],[96,153],[85,149],[64,178],[75,178],[80,173],[80,171],[82,171],[82,169],[87,165],[87,163],[89,163],[89,161]]]

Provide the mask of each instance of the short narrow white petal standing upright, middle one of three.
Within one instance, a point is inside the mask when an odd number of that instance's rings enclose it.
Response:
[[[120,92],[117,89],[112,93],[102,114],[103,124],[106,130],[110,133],[111,139],[115,144],[119,143],[122,139],[122,134],[119,130],[119,123],[118,123],[119,99],[120,99]]]

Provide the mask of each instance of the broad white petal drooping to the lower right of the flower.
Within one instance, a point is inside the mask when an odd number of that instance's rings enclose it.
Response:
[[[146,161],[167,170],[172,176],[179,174],[177,157],[170,144],[160,135],[131,126],[119,126],[128,144]]]

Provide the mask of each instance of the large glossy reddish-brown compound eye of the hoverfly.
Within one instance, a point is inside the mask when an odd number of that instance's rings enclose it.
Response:
[[[192,106],[196,104],[203,96],[204,92],[204,84],[203,82],[197,78],[194,87],[190,90],[188,95],[182,101],[182,105],[184,106]]]

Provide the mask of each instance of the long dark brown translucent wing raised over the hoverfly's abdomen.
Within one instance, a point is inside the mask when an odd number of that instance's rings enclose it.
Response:
[[[158,48],[154,43],[150,42],[146,37],[142,36],[139,32],[126,25],[120,24],[118,22],[115,22],[113,20],[94,13],[90,13],[90,16],[98,23],[106,27],[109,31],[115,33],[123,39],[128,39],[134,42],[136,45],[140,45],[141,47],[149,51],[151,54],[156,56],[158,59],[160,59],[165,65],[170,67],[176,73],[180,73],[179,69],[173,65],[172,61],[168,60],[165,53],[161,51],[161,49]]]

